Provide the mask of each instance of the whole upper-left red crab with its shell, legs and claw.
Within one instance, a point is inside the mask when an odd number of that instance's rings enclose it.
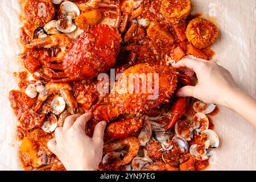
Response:
[[[96,77],[109,71],[115,65],[120,40],[121,35],[115,27],[99,24],[73,41],[64,34],[55,34],[34,39],[27,48],[60,46],[59,55],[50,57],[40,72],[47,80],[64,82]]]

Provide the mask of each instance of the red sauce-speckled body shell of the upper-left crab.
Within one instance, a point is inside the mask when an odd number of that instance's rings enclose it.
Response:
[[[96,77],[115,65],[121,35],[115,27],[98,24],[73,40],[63,59],[70,78]]]

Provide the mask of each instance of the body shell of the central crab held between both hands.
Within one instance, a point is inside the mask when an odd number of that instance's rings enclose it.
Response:
[[[147,84],[148,82],[151,82],[152,88],[155,85],[154,73],[157,73],[159,76],[159,84],[156,84],[156,86],[159,86],[159,92],[157,92],[158,97],[155,99],[150,98],[154,95],[154,93],[148,92],[148,89],[144,93],[129,93],[129,87],[131,85],[129,85],[128,77],[130,73],[133,73],[133,75],[135,73],[139,75],[145,74],[147,79],[146,82]],[[152,76],[147,74],[152,74]],[[121,78],[124,76],[127,78],[127,82],[124,82],[124,79]],[[116,91],[114,94],[110,94],[109,101],[110,104],[117,107],[118,111],[127,114],[137,114],[139,111],[148,110],[162,104],[175,92],[177,84],[176,69],[167,67],[166,65],[137,64],[134,65],[134,67],[126,69],[126,71],[122,73],[121,77],[114,83],[114,89],[117,91],[127,91],[127,93],[119,94]],[[139,81],[140,88],[142,88],[142,82],[143,81]],[[124,86],[125,84],[127,87]],[[124,88],[127,90],[123,90]]]

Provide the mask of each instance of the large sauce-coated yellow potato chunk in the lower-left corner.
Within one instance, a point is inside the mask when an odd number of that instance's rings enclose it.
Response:
[[[19,159],[24,169],[34,169],[42,166],[42,154],[51,155],[47,142],[51,135],[41,129],[36,129],[22,140],[19,147]]]

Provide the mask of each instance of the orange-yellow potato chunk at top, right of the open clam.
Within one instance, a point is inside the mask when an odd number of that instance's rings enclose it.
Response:
[[[101,20],[101,18],[102,15],[100,10],[92,10],[76,16],[75,23],[77,27],[85,30],[88,26],[93,26],[97,24]]]

